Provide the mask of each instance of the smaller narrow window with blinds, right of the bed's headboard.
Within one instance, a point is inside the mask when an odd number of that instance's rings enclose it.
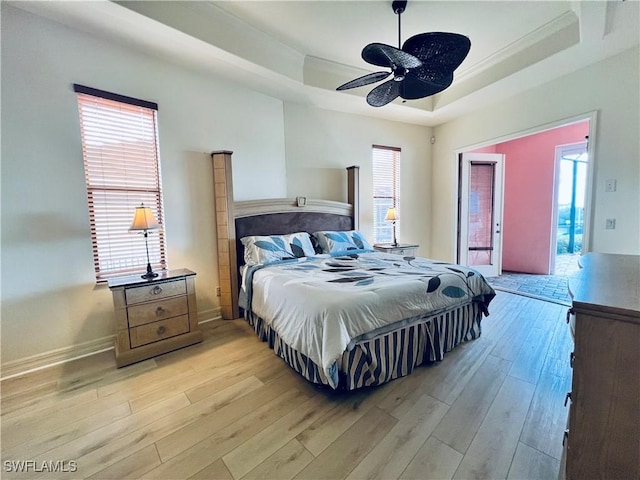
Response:
[[[393,225],[384,219],[389,207],[400,214],[400,149],[373,146],[373,241],[391,243]],[[400,221],[396,221],[396,229]]]

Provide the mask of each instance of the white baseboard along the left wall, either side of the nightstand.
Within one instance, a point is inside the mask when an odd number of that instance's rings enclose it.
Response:
[[[198,312],[198,324],[221,319],[222,314],[219,307]],[[55,365],[60,365],[61,363],[78,360],[79,358],[88,357],[90,355],[97,355],[98,353],[106,352],[107,350],[113,350],[114,340],[115,335],[109,335],[96,340],[7,362],[1,367],[0,381],[26,375],[27,373],[36,372]]]

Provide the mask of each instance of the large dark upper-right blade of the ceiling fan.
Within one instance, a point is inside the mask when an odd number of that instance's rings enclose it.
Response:
[[[419,58],[433,70],[453,72],[469,54],[471,41],[458,33],[429,32],[414,35],[402,50]]]

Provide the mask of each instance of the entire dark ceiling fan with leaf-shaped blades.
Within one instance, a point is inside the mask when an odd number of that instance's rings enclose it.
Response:
[[[390,72],[374,72],[358,77],[336,90],[362,87],[384,80],[367,95],[372,107],[382,107],[397,97],[414,100],[434,95],[453,82],[453,71],[460,66],[471,48],[464,35],[447,32],[429,32],[414,35],[400,48],[400,17],[407,7],[405,1],[392,2],[398,15],[398,48],[384,43],[370,43],[362,50],[362,59],[372,65],[388,67]]]

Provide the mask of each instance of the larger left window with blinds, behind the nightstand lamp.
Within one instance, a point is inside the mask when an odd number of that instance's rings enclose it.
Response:
[[[167,267],[155,103],[74,85],[97,280],[144,271],[142,234],[129,232],[135,207],[150,207],[160,229],[149,232],[149,258]]]

